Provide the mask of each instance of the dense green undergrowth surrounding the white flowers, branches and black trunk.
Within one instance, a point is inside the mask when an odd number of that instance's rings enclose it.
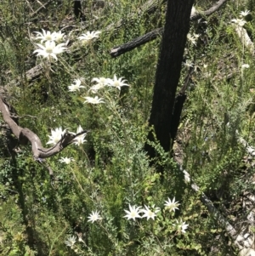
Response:
[[[48,165],[40,165],[31,156],[30,145],[14,141],[17,153],[10,156],[12,137],[1,128],[0,254],[233,254],[224,228],[212,219],[199,193],[185,184],[180,166],[233,225],[235,219],[245,219],[247,211],[241,199],[254,191],[254,168],[240,138],[255,145],[254,74],[252,55],[229,23],[245,6],[229,3],[219,9],[205,18],[206,31],[201,31],[199,22],[192,23],[190,33],[200,37],[196,45],[188,42],[185,51],[185,60],[195,62],[195,72],[187,89],[178,137],[170,153],[159,143],[151,143],[157,153],[152,161],[144,144],[151,129],[147,120],[161,38],[116,59],[109,50],[159,26],[165,6],[148,17],[137,14],[145,1],[105,1],[104,9],[94,9],[94,1],[85,1],[82,10],[87,20],[79,23],[72,14],[71,1],[52,1],[45,8],[42,4],[47,1],[10,2],[0,3],[0,20],[4,20],[0,79],[8,89],[8,102],[22,117],[20,126],[30,128],[43,145],[50,130],[60,126],[76,131],[81,125],[89,132],[85,144],[70,145],[50,157]],[[196,4],[207,9],[211,4],[207,2]],[[253,14],[252,1],[247,4]],[[109,30],[118,20],[122,26]],[[245,25],[251,37],[253,26],[253,20]],[[56,63],[36,58],[32,37],[42,28],[65,32],[72,52],[60,55]],[[84,30],[102,33],[97,41],[81,47],[76,42]],[[42,63],[42,75],[30,81],[26,71]],[[241,68],[243,64],[250,68]],[[99,91],[105,104],[83,104],[82,96],[88,96],[92,78],[112,78],[114,74],[127,79],[130,87]],[[184,67],[180,84],[186,75]],[[68,92],[77,78],[85,88]],[[59,162],[65,156],[75,161]],[[49,177],[47,166],[53,169],[54,179]],[[175,212],[164,206],[167,198],[173,197],[180,203]],[[129,204],[155,205],[161,211],[155,220],[127,220],[123,217]],[[93,211],[102,219],[91,223],[88,216]],[[186,232],[177,220],[189,225]],[[67,246],[72,236],[76,242]]]

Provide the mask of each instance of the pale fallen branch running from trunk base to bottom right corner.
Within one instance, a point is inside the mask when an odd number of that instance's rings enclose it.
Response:
[[[255,250],[252,248],[254,244],[252,234],[246,233],[241,235],[240,232],[238,233],[235,230],[235,228],[232,225],[230,225],[229,221],[225,219],[224,216],[218,211],[218,209],[214,207],[212,201],[203,192],[200,191],[199,186],[196,185],[192,179],[190,179],[190,174],[185,170],[183,170],[183,173],[185,181],[187,183],[190,183],[191,188],[195,192],[200,193],[201,202],[203,202],[203,204],[207,207],[207,210],[209,211],[209,213],[211,213],[212,218],[216,219],[218,224],[224,227],[224,230],[226,230],[227,234],[234,241],[235,246],[237,246],[240,249],[239,255],[255,255]]]

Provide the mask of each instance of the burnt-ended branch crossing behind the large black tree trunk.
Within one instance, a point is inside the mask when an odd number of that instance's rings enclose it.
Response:
[[[191,13],[191,15],[190,15],[190,20],[198,20],[202,16],[208,16],[208,15],[213,14],[226,1],[228,1],[228,0],[218,1],[218,3],[213,5],[212,8],[208,9],[207,11],[201,11],[199,13],[197,11],[194,11],[194,13]],[[124,43],[122,45],[118,45],[114,48],[111,48],[110,55],[111,55],[111,57],[117,57],[122,54],[125,54],[125,53],[133,50],[134,48],[137,48],[137,47],[143,45],[144,43],[148,43],[148,42],[156,39],[156,37],[161,36],[162,33],[163,33],[163,27],[157,28],[155,31],[150,31],[149,33],[145,34],[144,36],[137,37],[137,38],[133,39],[133,41],[130,41],[128,43]]]

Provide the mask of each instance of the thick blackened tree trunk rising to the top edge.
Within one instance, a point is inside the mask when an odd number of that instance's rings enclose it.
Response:
[[[190,13],[194,0],[168,0],[167,17],[161,43],[161,53],[156,68],[150,126],[155,128],[156,139],[165,151],[171,149],[171,131],[173,133],[173,108],[176,88],[182,67],[184,47],[190,27]],[[148,139],[154,140],[153,134]],[[145,145],[149,156],[154,157],[155,151]]]

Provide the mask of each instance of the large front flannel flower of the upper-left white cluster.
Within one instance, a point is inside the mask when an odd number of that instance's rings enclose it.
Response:
[[[42,56],[43,58],[47,58],[48,60],[50,57],[53,57],[55,60],[58,60],[57,54],[61,54],[65,51],[65,47],[63,47],[65,43],[59,43],[56,45],[54,41],[46,41],[45,46],[40,43],[37,43],[37,46],[40,49],[37,49],[33,52],[33,54],[37,53],[37,56]]]

